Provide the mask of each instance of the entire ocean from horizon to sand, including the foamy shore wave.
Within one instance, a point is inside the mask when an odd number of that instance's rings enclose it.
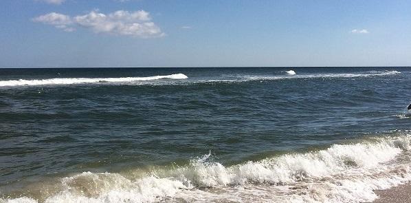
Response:
[[[0,70],[0,202],[372,202],[411,67]]]

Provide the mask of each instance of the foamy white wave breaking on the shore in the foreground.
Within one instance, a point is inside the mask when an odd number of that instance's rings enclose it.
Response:
[[[410,142],[406,134],[367,138],[233,166],[208,154],[145,175],[84,172],[41,191],[44,202],[371,202],[374,190],[411,180]]]

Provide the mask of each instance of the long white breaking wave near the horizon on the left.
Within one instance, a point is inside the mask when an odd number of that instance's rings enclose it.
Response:
[[[155,81],[159,79],[185,79],[185,74],[171,74],[166,76],[124,77],[124,78],[49,78],[42,80],[12,80],[0,81],[0,87],[5,86],[33,86],[33,85],[73,85],[82,83],[131,83],[135,81]]]

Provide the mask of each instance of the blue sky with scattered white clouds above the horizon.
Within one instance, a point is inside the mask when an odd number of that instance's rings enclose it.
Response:
[[[410,65],[411,1],[0,1],[0,67]]]

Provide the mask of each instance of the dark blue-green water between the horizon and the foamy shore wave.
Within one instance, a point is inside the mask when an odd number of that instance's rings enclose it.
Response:
[[[208,153],[230,167],[390,136],[410,129],[410,76],[411,67],[0,70],[0,193],[43,201],[22,185],[179,168]]]

